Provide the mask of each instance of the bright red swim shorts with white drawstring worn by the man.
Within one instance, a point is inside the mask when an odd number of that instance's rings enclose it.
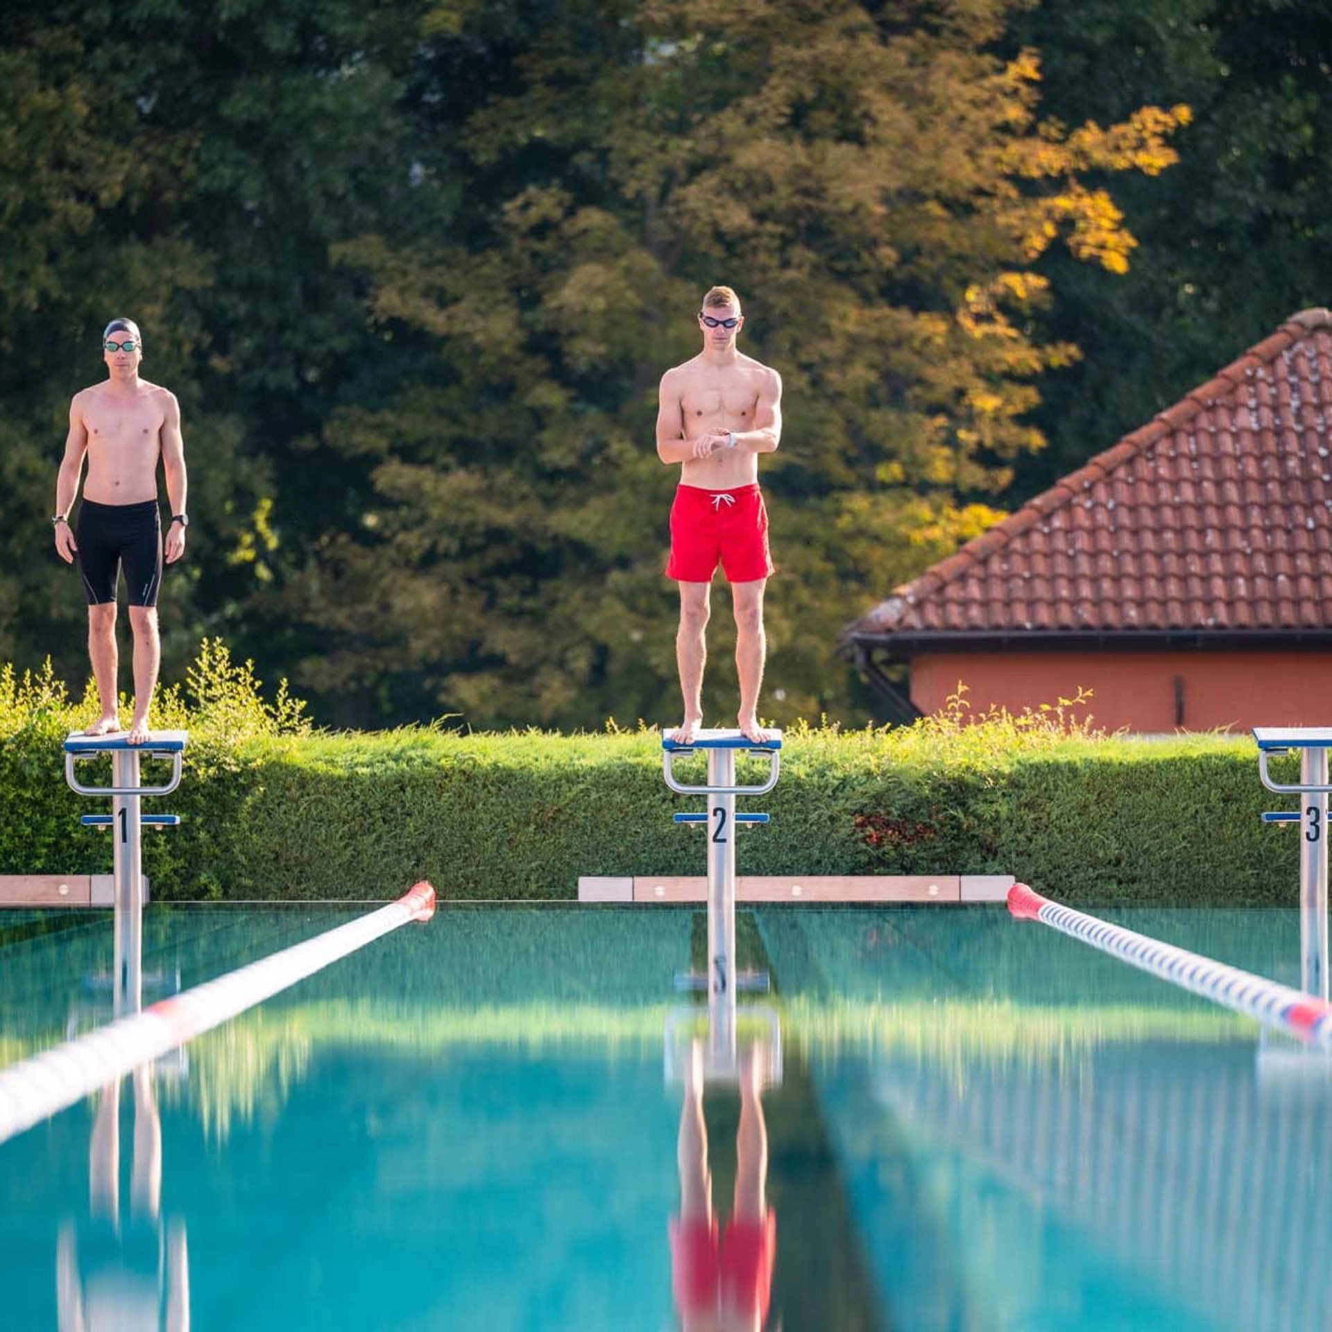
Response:
[[[711,582],[718,561],[727,582],[758,582],[775,571],[767,550],[767,509],[757,484],[733,490],[681,486],[675,492],[666,577]]]

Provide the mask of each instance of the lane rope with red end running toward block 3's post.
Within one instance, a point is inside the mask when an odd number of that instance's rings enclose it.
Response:
[[[1026,883],[1015,883],[1008,890],[1008,911],[1016,920],[1039,920],[1140,971],[1253,1018],[1265,1027],[1277,1027],[1332,1051],[1332,1004],[1313,995],[1098,920],[1072,907],[1062,907]]]

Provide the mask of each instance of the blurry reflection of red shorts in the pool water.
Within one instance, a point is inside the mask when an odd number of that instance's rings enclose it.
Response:
[[[682,1319],[718,1308],[745,1319],[767,1319],[777,1256],[777,1213],[761,1221],[731,1217],[725,1233],[715,1217],[673,1217],[670,1223],[671,1288]]]

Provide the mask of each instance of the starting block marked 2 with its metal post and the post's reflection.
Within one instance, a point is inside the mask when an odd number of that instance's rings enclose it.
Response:
[[[674,759],[702,750],[707,755],[707,782],[702,786],[675,778]],[[769,761],[766,781],[737,785],[735,755],[763,755]],[[709,1042],[705,1072],[713,1079],[737,1075],[735,995],[739,990],[769,987],[766,972],[738,975],[735,970],[735,830],[741,825],[767,823],[766,814],[735,813],[737,795],[766,795],[777,786],[782,762],[782,733],[774,731],[763,745],[746,739],[738,730],[702,730],[687,745],[670,734],[662,737],[662,770],[666,785],[678,795],[707,798],[706,814],[677,814],[677,823],[697,823],[707,830],[707,974],[678,974],[679,990],[707,990]],[[746,1010],[757,1014],[758,1010]],[[773,1028],[775,1030],[775,1014]],[[667,1027],[667,1043],[671,1027]],[[670,1054],[667,1052],[667,1059]],[[773,1055],[770,1051],[770,1064]],[[781,1078],[781,1038],[777,1038],[777,1074]],[[667,1068],[669,1075],[669,1068]]]

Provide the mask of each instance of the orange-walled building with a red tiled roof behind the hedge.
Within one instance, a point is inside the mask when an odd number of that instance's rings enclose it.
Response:
[[[1332,725],[1329,420],[1332,312],[1304,310],[840,646],[899,715],[962,681],[975,710],[1090,689],[1110,730]]]

